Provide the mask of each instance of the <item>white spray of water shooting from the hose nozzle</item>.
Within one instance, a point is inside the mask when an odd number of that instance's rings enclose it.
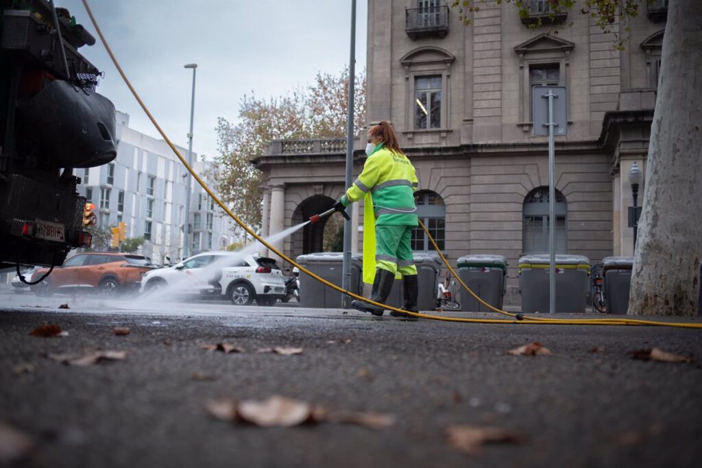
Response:
[[[307,224],[309,224],[309,221],[289,227],[282,232],[266,237],[265,241],[268,243],[281,241],[294,232],[297,232],[299,229],[302,229]],[[147,290],[139,297],[134,297],[131,300],[123,302],[123,305],[126,307],[158,308],[163,302],[180,299],[184,293],[195,293],[199,286],[206,287],[208,282],[220,273],[221,269],[237,265],[237,263],[246,256],[258,253],[261,247],[262,246],[258,242],[254,242],[234,252],[218,252],[216,260],[206,267],[190,269],[187,270],[187,273],[183,272],[183,274],[174,275],[173,279],[169,279],[167,285],[153,290]],[[169,268],[175,269],[175,267]]]

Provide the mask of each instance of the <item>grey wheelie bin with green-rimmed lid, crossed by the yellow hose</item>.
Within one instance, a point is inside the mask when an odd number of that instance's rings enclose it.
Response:
[[[502,255],[465,255],[458,259],[458,275],[482,300],[492,307],[502,309],[507,276],[507,259]],[[489,312],[461,286],[463,312]]]

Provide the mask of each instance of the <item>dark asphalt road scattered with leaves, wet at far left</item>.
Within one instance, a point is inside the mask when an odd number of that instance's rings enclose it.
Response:
[[[8,294],[0,301],[0,421],[35,443],[12,466],[702,465],[701,330],[411,323],[226,302]],[[64,302],[71,309],[56,308]],[[46,321],[69,336],[28,335]],[[127,326],[131,334],[114,336],[114,326]],[[533,341],[554,355],[506,354]],[[247,352],[200,348],[217,342]],[[303,347],[304,353],[253,352],[272,346]],[[126,350],[128,357],[84,368],[46,358],[47,352],[84,347]],[[594,347],[601,352],[591,352]],[[649,347],[694,361],[630,358],[631,351]],[[22,363],[36,369],[14,375]],[[194,373],[216,380],[193,380]],[[274,394],[390,413],[397,422],[378,431],[332,424],[260,429],[212,420],[204,410],[211,398]],[[525,440],[467,455],[446,442],[451,424],[513,429]]]

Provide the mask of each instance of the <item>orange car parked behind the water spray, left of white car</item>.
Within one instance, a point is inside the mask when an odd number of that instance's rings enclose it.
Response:
[[[117,296],[126,290],[138,290],[141,277],[154,266],[143,255],[131,253],[79,253],[69,258],[40,283],[32,286],[34,293],[48,296],[60,290],[98,290],[102,295]],[[32,282],[48,272],[39,268]]]

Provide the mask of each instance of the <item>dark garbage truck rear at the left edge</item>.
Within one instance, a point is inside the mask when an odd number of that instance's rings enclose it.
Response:
[[[62,265],[95,222],[75,168],[117,156],[114,105],[79,52],[94,37],[53,0],[0,0],[0,269]],[[88,207],[90,208],[90,207]]]

